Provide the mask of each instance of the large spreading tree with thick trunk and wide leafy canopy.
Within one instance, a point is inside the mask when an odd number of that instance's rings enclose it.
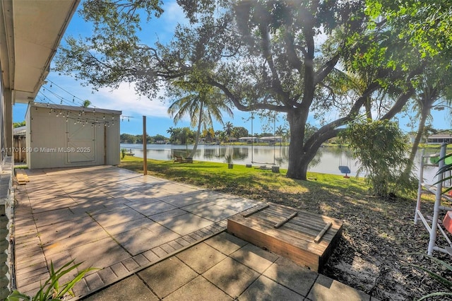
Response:
[[[158,1],[83,3],[95,25],[70,37],[57,69],[95,88],[136,83],[156,95],[174,81],[218,88],[238,110],[285,114],[290,127],[287,176],[307,179],[321,143],[364,111],[391,119],[415,94],[429,65],[448,68],[448,1],[179,0],[187,22],[170,42],[144,45],[142,17],[160,16]],[[362,78],[352,90],[350,73]],[[345,84],[347,83],[347,84]],[[383,95],[378,102],[376,95]],[[305,136],[309,114],[321,121]]]

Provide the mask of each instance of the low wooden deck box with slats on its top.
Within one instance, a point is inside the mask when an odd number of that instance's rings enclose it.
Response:
[[[232,216],[227,220],[228,232],[300,266],[321,270],[338,243],[343,222],[287,206],[267,205]]]

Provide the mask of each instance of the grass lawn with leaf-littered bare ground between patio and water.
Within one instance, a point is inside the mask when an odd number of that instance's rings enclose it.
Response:
[[[126,156],[120,167],[142,173],[143,159]],[[413,223],[415,191],[406,198],[380,199],[368,194],[363,179],[308,172],[309,181],[299,181],[285,177],[285,172],[244,165],[228,169],[225,163],[148,160],[148,175],[343,220],[343,237],[321,273],[373,297],[413,300],[444,290],[410,266],[432,268],[429,259],[413,254],[427,252],[429,237],[421,222]],[[433,196],[423,195],[424,215],[433,215],[433,201]],[[445,245],[441,240],[439,244]],[[449,256],[435,254],[450,261]],[[444,272],[436,266],[433,269]]]

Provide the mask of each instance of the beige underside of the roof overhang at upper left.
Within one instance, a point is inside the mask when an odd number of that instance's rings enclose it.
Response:
[[[33,101],[80,0],[1,0],[0,60],[13,103]]]

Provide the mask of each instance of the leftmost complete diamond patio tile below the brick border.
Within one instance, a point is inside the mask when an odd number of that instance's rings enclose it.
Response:
[[[176,257],[161,261],[155,266],[138,272],[143,281],[158,297],[166,297],[198,276],[191,268]]]

